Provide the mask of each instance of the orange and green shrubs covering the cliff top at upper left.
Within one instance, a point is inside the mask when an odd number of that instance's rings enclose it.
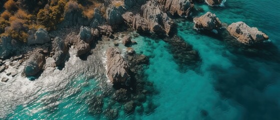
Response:
[[[92,18],[97,0],[1,0],[0,36],[27,42],[29,30],[40,27],[54,30],[63,21],[65,13],[74,7],[85,17]]]

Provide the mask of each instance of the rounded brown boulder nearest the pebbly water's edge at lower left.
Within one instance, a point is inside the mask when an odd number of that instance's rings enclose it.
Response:
[[[34,53],[29,56],[26,61],[24,73],[28,76],[36,75],[38,72],[43,70],[43,66],[46,63],[45,56],[41,53]]]

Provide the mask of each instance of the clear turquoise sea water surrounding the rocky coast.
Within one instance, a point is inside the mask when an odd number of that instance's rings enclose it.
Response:
[[[215,13],[227,24],[244,21],[259,28],[274,44],[262,51],[275,52],[244,53],[244,49],[226,39],[196,32],[193,22],[186,20],[178,23],[177,35],[193,45],[202,60],[195,70],[181,72],[169,44],[139,36],[133,47],[150,57],[145,75],[159,91],[152,97],[157,107],[149,114],[137,110],[130,115],[120,112],[118,119],[280,119],[280,1],[227,0],[222,7],[196,7],[204,9],[201,14]],[[73,79],[61,97],[44,101],[45,96],[52,94],[46,92],[34,102],[18,106],[7,119],[103,119],[88,112],[85,100],[99,86],[94,78],[82,76]],[[72,91],[73,87],[79,91]],[[143,106],[148,107],[147,104]]]

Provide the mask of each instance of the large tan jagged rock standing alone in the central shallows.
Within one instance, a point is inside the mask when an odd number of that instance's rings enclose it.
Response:
[[[106,51],[107,75],[113,84],[130,85],[130,68],[118,48],[110,47]]]

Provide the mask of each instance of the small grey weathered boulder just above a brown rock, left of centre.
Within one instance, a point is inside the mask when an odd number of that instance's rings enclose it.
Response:
[[[81,26],[80,32],[79,32],[80,39],[84,40],[87,43],[90,43],[93,39],[91,30],[87,26]]]

